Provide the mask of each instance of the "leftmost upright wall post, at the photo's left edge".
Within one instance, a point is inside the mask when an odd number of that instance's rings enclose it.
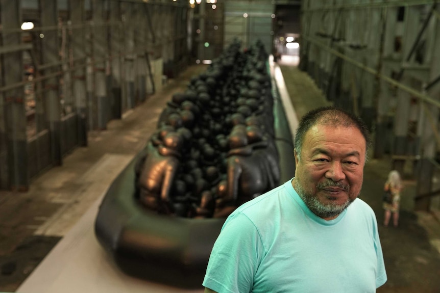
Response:
[[[21,1],[0,1],[0,16],[2,20],[2,44],[14,46],[21,44]],[[2,56],[3,85],[22,81],[23,66],[21,51],[8,52]],[[23,87],[16,87],[3,92],[3,115],[5,117],[2,139],[5,138],[6,149],[2,150],[0,162],[2,167],[2,185],[8,185],[12,190],[27,191],[29,189],[28,150],[26,134],[26,111]],[[3,123],[2,123],[3,124]],[[6,172],[6,173],[3,173]]]

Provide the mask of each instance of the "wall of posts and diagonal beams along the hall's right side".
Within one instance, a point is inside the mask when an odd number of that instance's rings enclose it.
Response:
[[[415,208],[440,208],[440,9],[424,0],[303,0],[301,69],[327,98],[360,115],[373,157],[412,165]]]

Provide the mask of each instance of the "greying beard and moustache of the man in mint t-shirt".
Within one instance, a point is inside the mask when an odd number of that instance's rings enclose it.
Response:
[[[337,183],[337,182],[326,182],[326,183],[319,183],[316,186],[317,190],[320,190],[324,187],[338,187],[344,189],[347,193],[350,191],[350,187],[345,184]],[[316,216],[320,218],[331,218],[339,215],[341,212],[343,212],[353,201],[348,200],[342,205],[328,203],[323,204],[319,201],[316,195],[312,194],[312,191],[306,191],[303,189],[302,185],[300,184],[298,179],[295,179],[295,190],[298,192],[298,195],[301,197],[301,199],[304,201],[304,203],[307,205],[307,207],[315,214]]]

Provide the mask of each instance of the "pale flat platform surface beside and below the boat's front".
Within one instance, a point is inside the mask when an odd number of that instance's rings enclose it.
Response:
[[[103,195],[104,196],[104,195]],[[102,196],[102,197],[103,197]],[[202,293],[143,281],[125,275],[94,235],[102,197],[43,259],[17,289],[20,293]]]

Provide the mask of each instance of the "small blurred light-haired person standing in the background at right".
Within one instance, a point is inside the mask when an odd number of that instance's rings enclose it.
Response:
[[[399,225],[400,191],[402,190],[402,180],[400,179],[399,172],[396,170],[389,172],[388,180],[386,180],[383,189],[389,191],[392,195],[391,203],[383,203],[383,209],[385,210],[383,225],[388,226],[389,219],[393,213],[393,224],[394,227],[397,227]]]

